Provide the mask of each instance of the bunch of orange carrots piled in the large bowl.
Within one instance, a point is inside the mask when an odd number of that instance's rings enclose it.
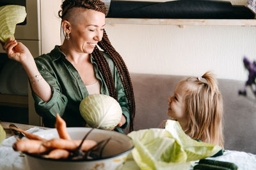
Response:
[[[70,153],[76,150],[81,144],[82,140],[72,140],[67,132],[67,125],[65,120],[63,120],[60,115],[56,115],[55,127],[58,131],[60,138],[54,139],[44,139],[40,138],[35,134],[30,134],[28,132],[22,131],[16,127],[10,127],[15,131],[22,132],[26,138],[19,139],[13,144],[13,150],[33,153],[36,155],[42,155],[45,158],[51,159],[67,159]],[[84,140],[81,145],[82,151],[87,151],[97,146],[97,142],[93,140]]]

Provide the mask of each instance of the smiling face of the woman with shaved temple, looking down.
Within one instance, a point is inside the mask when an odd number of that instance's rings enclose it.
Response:
[[[70,22],[70,47],[81,53],[92,53],[103,36],[105,15],[99,11],[76,8]]]

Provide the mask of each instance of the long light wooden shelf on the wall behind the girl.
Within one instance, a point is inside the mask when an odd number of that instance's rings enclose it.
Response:
[[[106,24],[135,25],[237,25],[256,26],[256,19],[146,19],[146,18],[106,18]]]

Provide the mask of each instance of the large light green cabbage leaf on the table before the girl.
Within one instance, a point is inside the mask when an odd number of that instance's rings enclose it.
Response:
[[[211,157],[221,146],[187,136],[179,122],[168,120],[165,129],[143,129],[128,134],[134,142],[132,157],[142,170],[189,169],[191,161]]]

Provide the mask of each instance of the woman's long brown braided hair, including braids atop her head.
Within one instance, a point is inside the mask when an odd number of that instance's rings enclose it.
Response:
[[[100,0],[65,0],[61,5],[62,10],[59,11],[59,16],[62,18],[62,20],[67,14],[68,10],[70,10],[73,7],[83,7],[90,10],[96,10],[106,15],[106,6]],[[129,131],[131,132],[133,131],[135,103],[134,103],[134,94],[133,94],[132,82],[131,82],[129,71],[120,54],[116,52],[115,48],[111,45],[105,30],[103,32],[102,40],[99,41],[97,45],[99,45],[99,47],[102,48],[102,50],[104,50],[104,52],[106,52],[109,55],[109,57],[111,57],[111,59],[113,59],[113,62],[115,63],[118,74],[120,75],[120,79],[122,81],[122,85],[125,90],[125,96],[127,97],[128,103],[129,103],[129,111],[130,111]],[[97,46],[93,50],[92,55],[93,57],[95,57],[95,61],[99,66],[99,71],[102,74],[104,80],[106,81],[106,85],[109,91],[109,96],[114,97],[116,101],[118,101],[118,95],[117,95],[115,83],[114,83],[113,76],[111,74],[111,70],[106,58],[104,57],[104,55],[102,55],[102,52],[100,52]]]

